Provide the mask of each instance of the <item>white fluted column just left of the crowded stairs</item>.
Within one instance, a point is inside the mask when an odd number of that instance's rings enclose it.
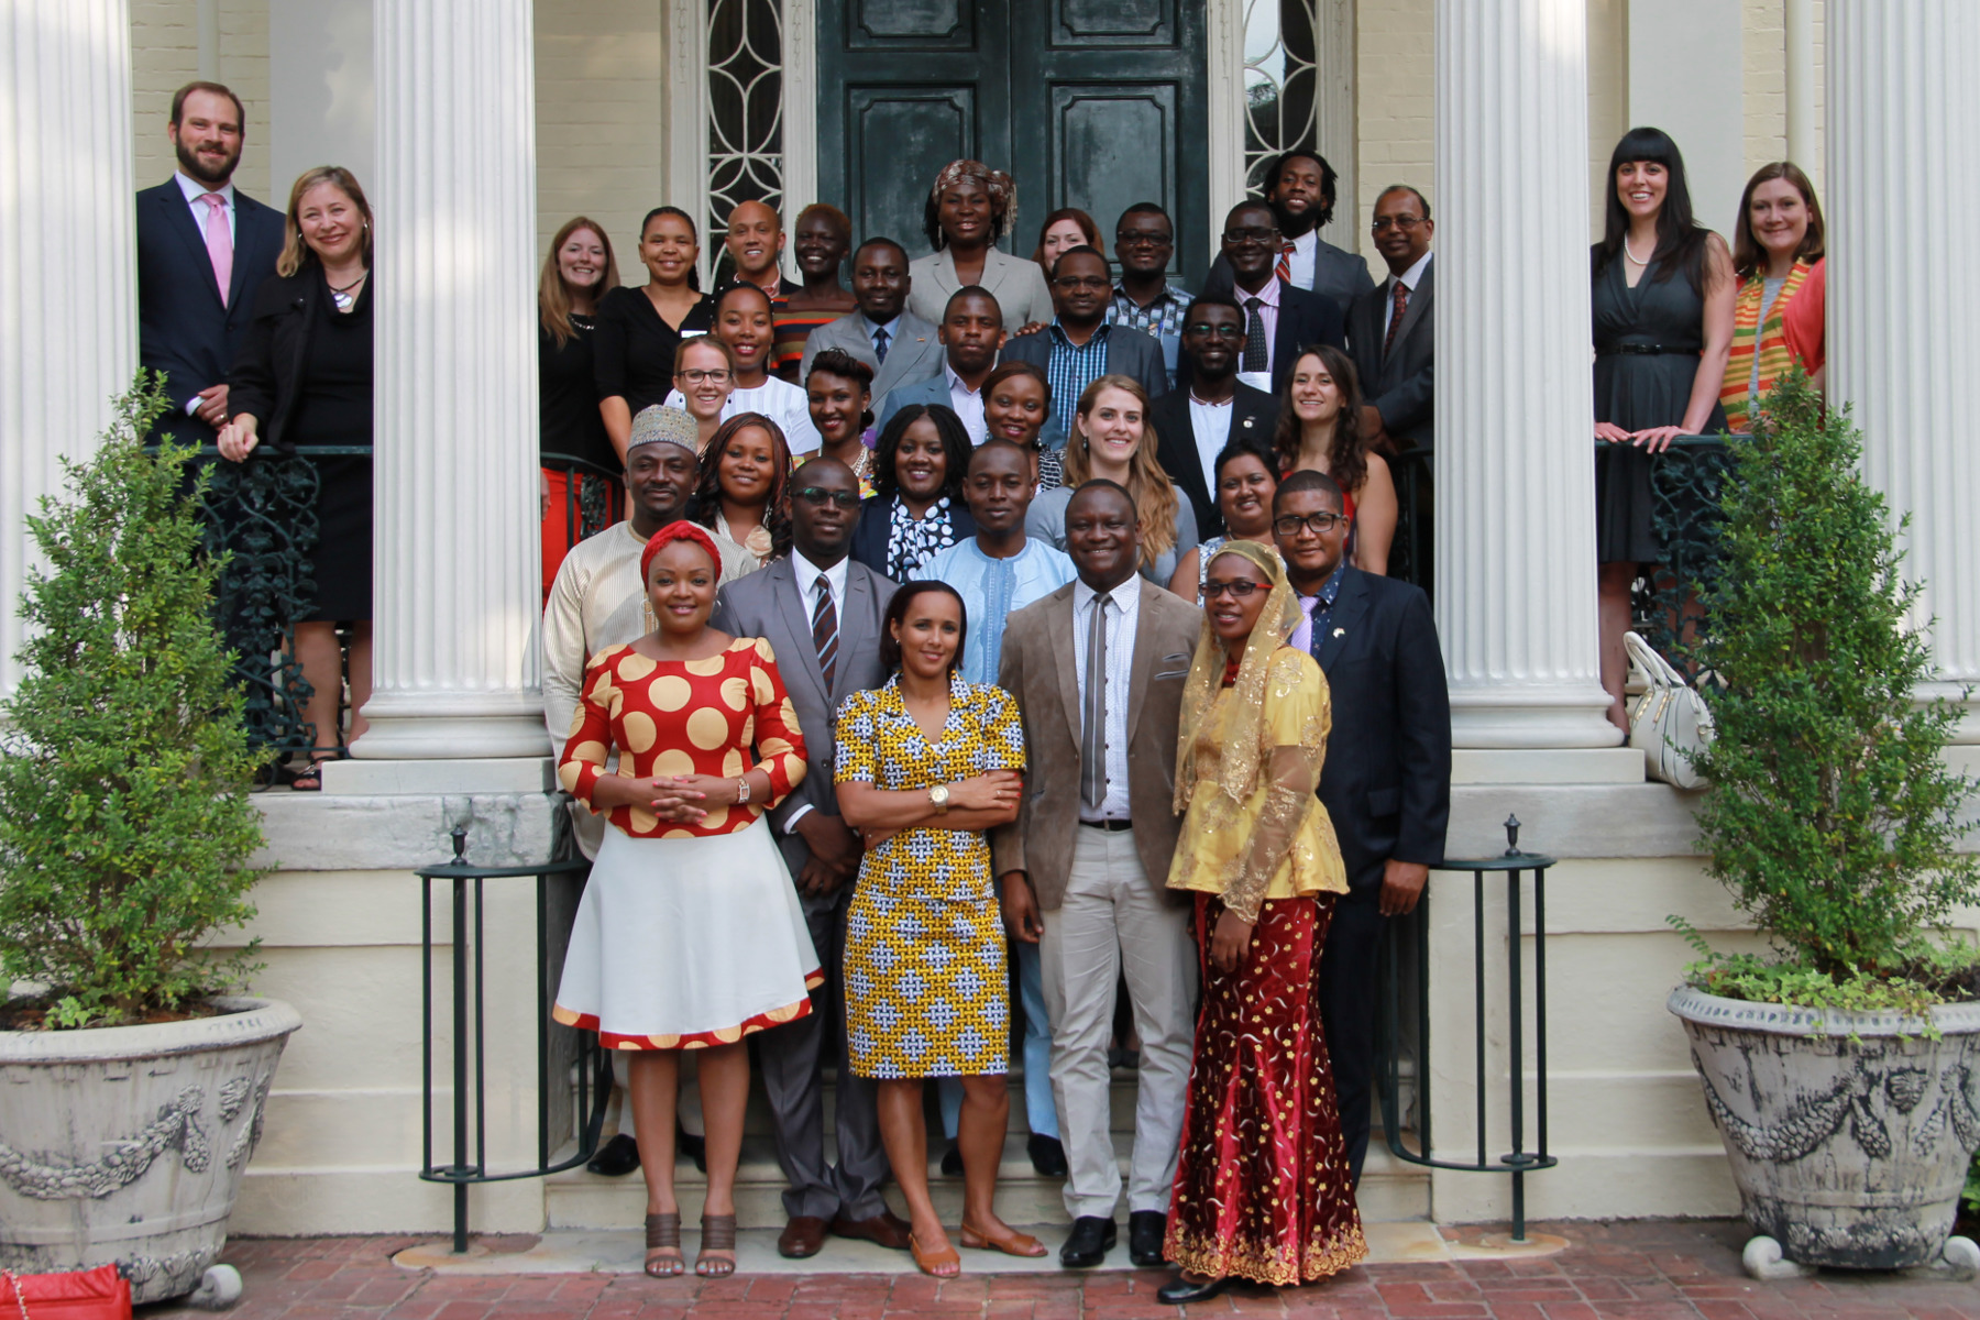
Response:
[[[360,758],[544,756],[529,0],[376,0],[376,625]]]

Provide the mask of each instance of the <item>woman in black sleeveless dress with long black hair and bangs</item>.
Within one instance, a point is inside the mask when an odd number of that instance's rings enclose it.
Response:
[[[1732,346],[1732,253],[1691,218],[1685,160],[1659,129],[1632,129],[1610,156],[1608,224],[1592,249],[1596,344],[1596,546],[1602,687],[1628,728],[1630,588],[1661,556],[1651,457],[1675,435],[1727,425],[1719,406]]]

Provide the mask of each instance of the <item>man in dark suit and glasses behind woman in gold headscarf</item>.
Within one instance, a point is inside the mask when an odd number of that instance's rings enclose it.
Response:
[[[1321,1021],[1340,1136],[1360,1179],[1374,1088],[1374,970],[1382,926],[1416,910],[1443,861],[1451,815],[1451,699],[1430,598],[1346,562],[1348,519],[1333,477],[1297,471],[1271,501],[1273,538],[1307,621],[1291,635],[1327,673],[1335,722],[1321,805],[1340,839],[1348,893],[1321,958]]]

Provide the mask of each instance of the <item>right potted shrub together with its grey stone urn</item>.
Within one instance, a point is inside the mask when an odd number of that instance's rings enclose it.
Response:
[[[1958,851],[1974,786],[1940,758],[1960,714],[1917,701],[1919,588],[1847,416],[1796,378],[1731,445],[1695,647],[1719,726],[1699,825],[1772,954],[1693,934],[1705,958],[1669,1007],[1758,1233],[1750,1271],[1972,1269],[1948,1239],[1980,1146],[1980,972],[1942,934],[1980,893]]]

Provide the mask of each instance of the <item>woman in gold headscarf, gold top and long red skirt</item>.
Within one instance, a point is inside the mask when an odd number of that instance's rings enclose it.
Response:
[[[1182,691],[1170,889],[1196,896],[1202,1009],[1164,1255],[1162,1302],[1234,1280],[1301,1284],[1368,1255],[1340,1144],[1319,970],[1346,869],[1315,798],[1327,679],[1285,645],[1299,600],[1271,546],[1210,560]]]

